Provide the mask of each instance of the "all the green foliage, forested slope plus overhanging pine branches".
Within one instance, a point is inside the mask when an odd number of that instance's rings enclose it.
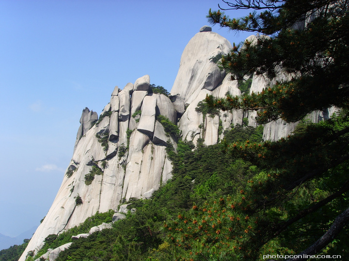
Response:
[[[75,241],[57,261],[261,261],[266,254],[302,252],[331,232],[332,225],[338,232],[316,252],[349,255],[348,217],[337,223],[349,205],[348,3],[319,8],[327,3],[229,3],[237,9],[266,10],[241,19],[210,11],[211,22],[223,27],[270,34],[241,48],[234,44],[221,62],[228,72],[237,79],[253,72],[273,78],[282,65],[294,78],[258,94],[246,90],[241,97],[208,97],[197,111],[214,116],[218,109],[257,110],[259,123],[297,121],[332,105],[342,108],[340,113],[318,124],[304,121],[276,142],[262,141],[262,126],[240,125],[224,133],[222,144],[201,144],[194,151],[190,142],[179,139],[175,153],[168,142],[172,179],[151,200],[132,199],[135,213],[110,230]],[[307,28],[289,29],[313,9],[320,15]],[[167,132],[174,134],[172,127]],[[128,139],[130,134],[127,130]],[[64,233],[51,248],[70,240]]]

